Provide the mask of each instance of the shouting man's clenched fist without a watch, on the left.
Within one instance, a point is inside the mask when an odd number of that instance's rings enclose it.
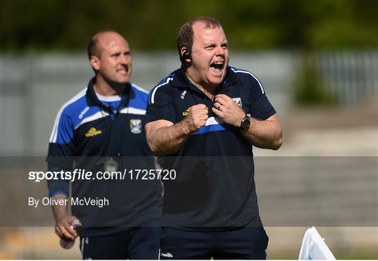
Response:
[[[189,133],[195,133],[202,126],[206,125],[209,118],[209,108],[204,104],[197,104],[190,107],[188,116],[183,120]]]

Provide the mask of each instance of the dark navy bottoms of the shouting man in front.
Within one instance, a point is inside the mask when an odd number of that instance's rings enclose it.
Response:
[[[160,259],[266,259],[269,238],[262,227],[228,231],[163,228]]]

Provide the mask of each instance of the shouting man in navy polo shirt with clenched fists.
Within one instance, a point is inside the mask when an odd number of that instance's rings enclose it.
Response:
[[[265,259],[252,147],[279,149],[281,126],[252,73],[228,66],[221,24],[196,17],[177,36],[182,66],[148,97],[146,135],[166,180],[162,259]],[[170,156],[170,157],[168,157]]]

